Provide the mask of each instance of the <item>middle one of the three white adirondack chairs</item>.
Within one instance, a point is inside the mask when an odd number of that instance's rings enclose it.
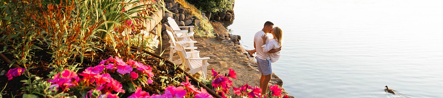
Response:
[[[197,43],[197,41],[189,41],[188,39],[189,36],[180,36],[180,37],[175,37],[174,34],[170,31],[170,28],[168,26],[166,26],[167,30],[167,34],[169,36],[169,38],[171,40],[169,40],[169,57],[167,58],[169,61],[171,61],[174,64],[181,64],[182,62],[180,61],[181,59],[179,59],[178,57],[176,57],[177,55],[174,55],[174,53],[176,53],[175,51],[175,47],[177,45],[181,45],[184,46],[184,49],[189,49],[189,51],[194,51],[194,49],[197,49],[197,47],[194,47],[194,43]],[[180,40],[178,40],[180,39]],[[199,54],[193,54],[190,55],[192,57],[198,57]]]

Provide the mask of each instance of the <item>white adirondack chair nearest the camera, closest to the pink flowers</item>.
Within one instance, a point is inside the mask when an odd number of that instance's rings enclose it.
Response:
[[[182,45],[177,45],[175,51],[177,51],[180,59],[182,59],[182,64],[189,67],[190,71],[188,73],[195,74],[198,72],[203,78],[206,78],[209,57],[188,57],[188,54],[195,54],[200,51],[186,52]]]

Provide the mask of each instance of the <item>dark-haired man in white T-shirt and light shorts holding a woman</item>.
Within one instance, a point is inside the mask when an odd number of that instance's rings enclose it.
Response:
[[[271,49],[268,53],[264,53],[263,49],[260,48],[262,45],[269,43],[269,40],[266,40],[266,43],[263,43],[263,39],[261,37],[266,36],[266,33],[270,33],[273,26],[274,23],[267,21],[266,23],[264,23],[263,29],[258,31],[254,36],[254,48],[257,55],[256,56],[257,65],[258,65],[258,70],[261,73],[260,88],[262,95],[266,93],[266,90],[268,89],[269,80],[271,80],[272,67],[271,67],[271,58],[269,57],[269,53],[276,53],[281,50],[280,47],[279,49]],[[249,51],[254,51],[254,50],[249,50]]]

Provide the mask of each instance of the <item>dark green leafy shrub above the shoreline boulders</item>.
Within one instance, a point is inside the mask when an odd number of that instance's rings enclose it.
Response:
[[[233,0],[187,0],[190,4],[194,4],[198,10],[203,12],[220,12],[223,10],[231,10],[233,8]]]

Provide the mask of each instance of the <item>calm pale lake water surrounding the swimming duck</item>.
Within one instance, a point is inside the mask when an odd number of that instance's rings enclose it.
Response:
[[[282,56],[272,67],[296,98],[443,98],[442,4],[236,0],[227,28],[246,49],[264,22],[282,28]],[[386,85],[402,95],[385,93]]]

